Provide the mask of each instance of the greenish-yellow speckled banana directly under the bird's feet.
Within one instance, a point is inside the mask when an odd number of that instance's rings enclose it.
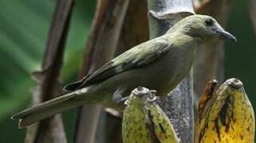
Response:
[[[137,87],[132,91],[123,112],[122,137],[124,143],[178,143],[175,129],[158,105],[156,91]]]

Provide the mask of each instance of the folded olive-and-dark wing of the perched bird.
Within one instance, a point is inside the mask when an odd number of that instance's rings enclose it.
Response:
[[[168,52],[171,48],[171,44],[164,39],[157,39],[157,41],[145,42],[138,46],[129,49],[115,59],[104,64],[96,72],[91,75],[87,75],[76,83],[70,83],[64,87],[65,91],[75,91],[82,87],[86,87],[93,83],[98,83],[104,79],[108,79],[113,75],[117,75],[120,72],[125,72],[135,68],[140,68],[146,64],[151,63],[158,57]]]

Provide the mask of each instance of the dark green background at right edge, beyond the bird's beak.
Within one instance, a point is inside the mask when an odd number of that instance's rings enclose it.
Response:
[[[256,14],[255,14],[256,15]],[[225,78],[241,79],[250,102],[256,111],[256,33],[249,17],[248,0],[232,1],[228,30],[238,42],[226,43]]]

